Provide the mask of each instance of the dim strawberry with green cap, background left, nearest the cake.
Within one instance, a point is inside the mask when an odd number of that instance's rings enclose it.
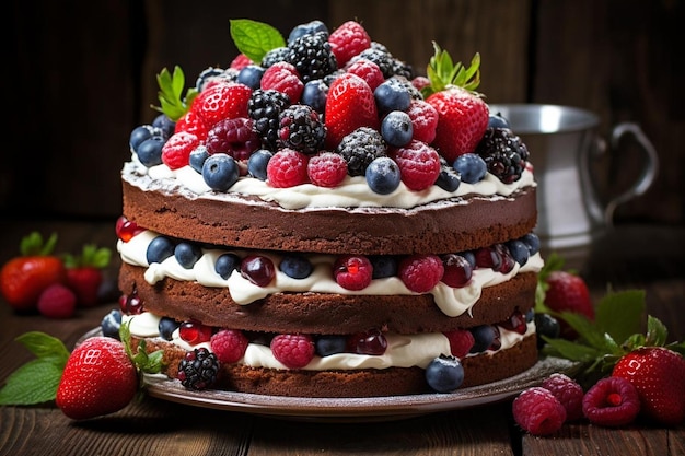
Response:
[[[109,265],[111,256],[108,248],[86,244],[80,256],[65,257],[67,287],[76,294],[78,305],[90,307],[97,304],[97,292],[103,281],[102,269]]]

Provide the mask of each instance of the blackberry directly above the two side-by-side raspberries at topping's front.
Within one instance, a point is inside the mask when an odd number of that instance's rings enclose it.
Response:
[[[318,113],[307,105],[292,105],[279,117],[278,145],[314,154],[326,139],[326,127]]]

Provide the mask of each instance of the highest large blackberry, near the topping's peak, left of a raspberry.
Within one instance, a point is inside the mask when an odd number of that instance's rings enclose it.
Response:
[[[288,45],[288,49],[286,60],[297,68],[304,83],[322,79],[338,69],[326,33],[300,36]]]

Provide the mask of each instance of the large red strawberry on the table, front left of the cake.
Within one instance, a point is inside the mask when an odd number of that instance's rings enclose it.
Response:
[[[124,344],[92,337],[67,360],[56,404],[67,417],[83,420],[123,409],[137,390],[138,373]]]

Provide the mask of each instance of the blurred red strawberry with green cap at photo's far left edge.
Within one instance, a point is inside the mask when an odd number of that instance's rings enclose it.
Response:
[[[65,265],[53,255],[56,243],[55,233],[44,244],[40,234],[33,232],[22,239],[21,256],[10,259],[0,270],[0,292],[14,309],[35,309],[46,288],[65,282]]]

